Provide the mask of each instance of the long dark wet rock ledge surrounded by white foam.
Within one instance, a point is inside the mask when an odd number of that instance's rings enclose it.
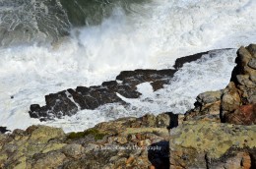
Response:
[[[184,63],[196,61],[204,54],[214,57],[215,50],[179,58],[173,66],[175,69],[123,71],[116,77],[116,81],[90,87],[77,86],[75,89],[69,88],[57,93],[50,93],[45,95],[46,104],[44,106],[32,104],[29,113],[32,118],[45,121],[65,115],[71,116],[83,109],[96,109],[107,103],[125,104],[116,95],[116,92],[127,98],[138,98],[141,93],[137,91],[136,85],[146,82],[150,82],[154,90],[158,90],[163,87],[163,84],[169,84],[174,73]]]

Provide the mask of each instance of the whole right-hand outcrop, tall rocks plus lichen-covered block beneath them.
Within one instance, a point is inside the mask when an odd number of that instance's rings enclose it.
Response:
[[[255,57],[255,44],[239,48],[230,83],[199,94],[170,131],[170,168],[256,167]]]

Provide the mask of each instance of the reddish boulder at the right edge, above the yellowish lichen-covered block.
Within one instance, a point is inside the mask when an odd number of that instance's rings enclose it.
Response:
[[[256,104],[242,105],[234,113],[226,114],[226,122],[235,125],[256,124]]]

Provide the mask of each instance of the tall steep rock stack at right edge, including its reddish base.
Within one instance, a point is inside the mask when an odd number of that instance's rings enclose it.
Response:
[[[240,47],[230,83],[222,96],[223,122],[256,124],[256,45]]]

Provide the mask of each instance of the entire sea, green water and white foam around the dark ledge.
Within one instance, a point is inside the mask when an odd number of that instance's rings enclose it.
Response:
[[[65,132],[146,113],[184,114],[196,96],[224,88],[237,48],[256,43],[255,0],[0,0],[0,126],[41,124]],[[175,60],[217,50],[185,64],[169,85],[124,106],[106,104],[46,122],[32,119],[44,95],[90,86],[126,70],[170,69]]]

